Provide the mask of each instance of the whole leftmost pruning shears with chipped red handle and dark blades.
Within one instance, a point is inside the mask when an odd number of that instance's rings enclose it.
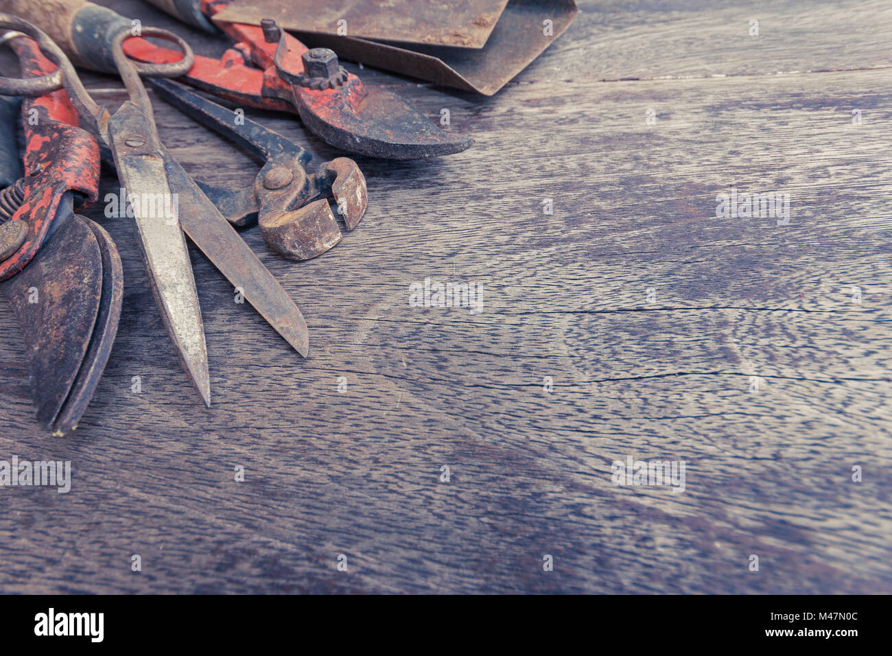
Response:
[[[12,32],[2,40],[24,75],[54,70],[30,38]],[[111,353],[123,271],[111,237],[72,213],[96,198],[99,158],[68,96],[28,99],[22,119],[27,175],[4,179],[0,191],[0,293],[22,330],[37,420],[63,435],[77,427]],[[20,170],[14,134],[3,137],[4,170]]]

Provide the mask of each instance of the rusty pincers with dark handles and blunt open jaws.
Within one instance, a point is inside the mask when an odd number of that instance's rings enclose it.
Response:
[[[162,98],[220,134],[247,146],[264,164],[252,187],[231,191],[200,184],[220,212],[235,226],[260,224],[270,248],[292,260],[309,260],[341,241],[328,199],[335,201],[344,225],[352,230],[368,204],[366,179],[356,162],[338,157],[307,175],[310,153],[277,132],[167,79],[150,82]]]

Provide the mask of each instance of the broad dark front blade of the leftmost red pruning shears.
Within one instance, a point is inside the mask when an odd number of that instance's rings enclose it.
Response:
[[[21,326],[37,421],[52,428],[94,334],[103,257],[93,231],[69,214],[18,274],[0,283]]]

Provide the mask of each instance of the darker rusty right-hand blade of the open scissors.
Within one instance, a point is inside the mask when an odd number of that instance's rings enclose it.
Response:
[[[161,153],[171,187],[179,195],[179,221],[186,235],[233,286],[242,290],[244,298],[269,325],[306,357],[310,348],[307,322],[297,305],[164,146]]]

